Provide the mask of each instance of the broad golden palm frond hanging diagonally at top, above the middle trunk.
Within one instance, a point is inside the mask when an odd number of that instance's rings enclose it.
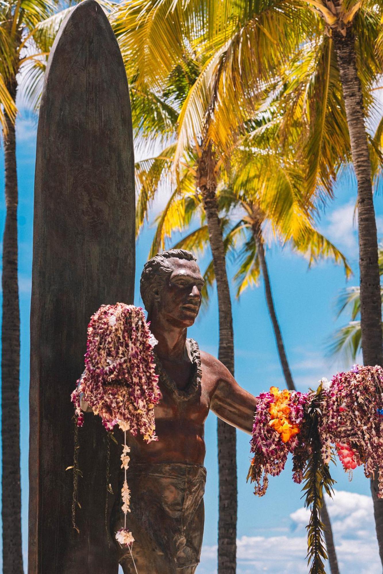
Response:
[[[246,132],[248,122],[278,85],[282,70],[317,28],[315,17],[294,1],[239,2],[243,17],[225,50],[208,137],[221,153]],[[250,8],[250,10],[249,10]],[[229,128],[229,129],[227,129]]]

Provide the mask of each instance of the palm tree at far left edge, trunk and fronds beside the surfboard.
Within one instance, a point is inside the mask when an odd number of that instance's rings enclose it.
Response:
[[[5,157],[6,219],[2,257],[2,524],[3,573],[21,574],[20,313],[17,281],[16,95],[24,73],[24,96],[35,106],[49,49],[67,10],[58,3],[6,0],[0,5],[0,123]]]

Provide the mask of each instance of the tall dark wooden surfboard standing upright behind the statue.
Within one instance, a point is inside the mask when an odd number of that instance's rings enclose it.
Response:
[[[101,7],[85,0],[49,56],[37,131],[30,317],[29,574],[117,574],[104,520],[106,432],[79,429],[78,534],[72,528],[74,409],[87,324],[132,303],[135,192],[127,76]],[[116,490],[115,490],[116,491]],[[110,505],[108,513],[110,513]]]

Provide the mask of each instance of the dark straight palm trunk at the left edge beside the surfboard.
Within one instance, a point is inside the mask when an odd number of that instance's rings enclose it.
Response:
[[[8,89],[15,99],[16,82]],[[8,132],[3,136],[6,219],[3,235],[1,357],[3,574],[22,574],[16,134],[10,118],[6,117],[6,123]]]

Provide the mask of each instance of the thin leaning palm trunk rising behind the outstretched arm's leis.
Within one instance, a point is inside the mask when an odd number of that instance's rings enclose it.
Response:
[[[267,263],[265,258],[265,249],[263,249],[263,242],[261,236],[261,228],[258,224],[254,224],[252,227],[252,232],[254,235],[256,251],[258,253],[259,266],[261,267],[263,282],[265,284],[265,295],[267,308],[269,309],[271,323],[273,323],[275,340],[277,341],[278,355],[281,362],[282,370],[284,371],[286,385],[289,390],[296,390],[294,385],[293,377],[290,371],[290,366],[286,356],[285,345],[282,339],[281,328],[279,327],[277,313],[275,312],[273,293],[271,293],[269,270],[267,269]],[[332,535],[332,528],[330,517],[327,512],[327,506],[323,499],[322,509],[320,513],[321,521],[324,526],[324,538],[328,554],[328,562],[330,563],[331,574],[339,574],[338,559],[336,558],[334,537]]]

